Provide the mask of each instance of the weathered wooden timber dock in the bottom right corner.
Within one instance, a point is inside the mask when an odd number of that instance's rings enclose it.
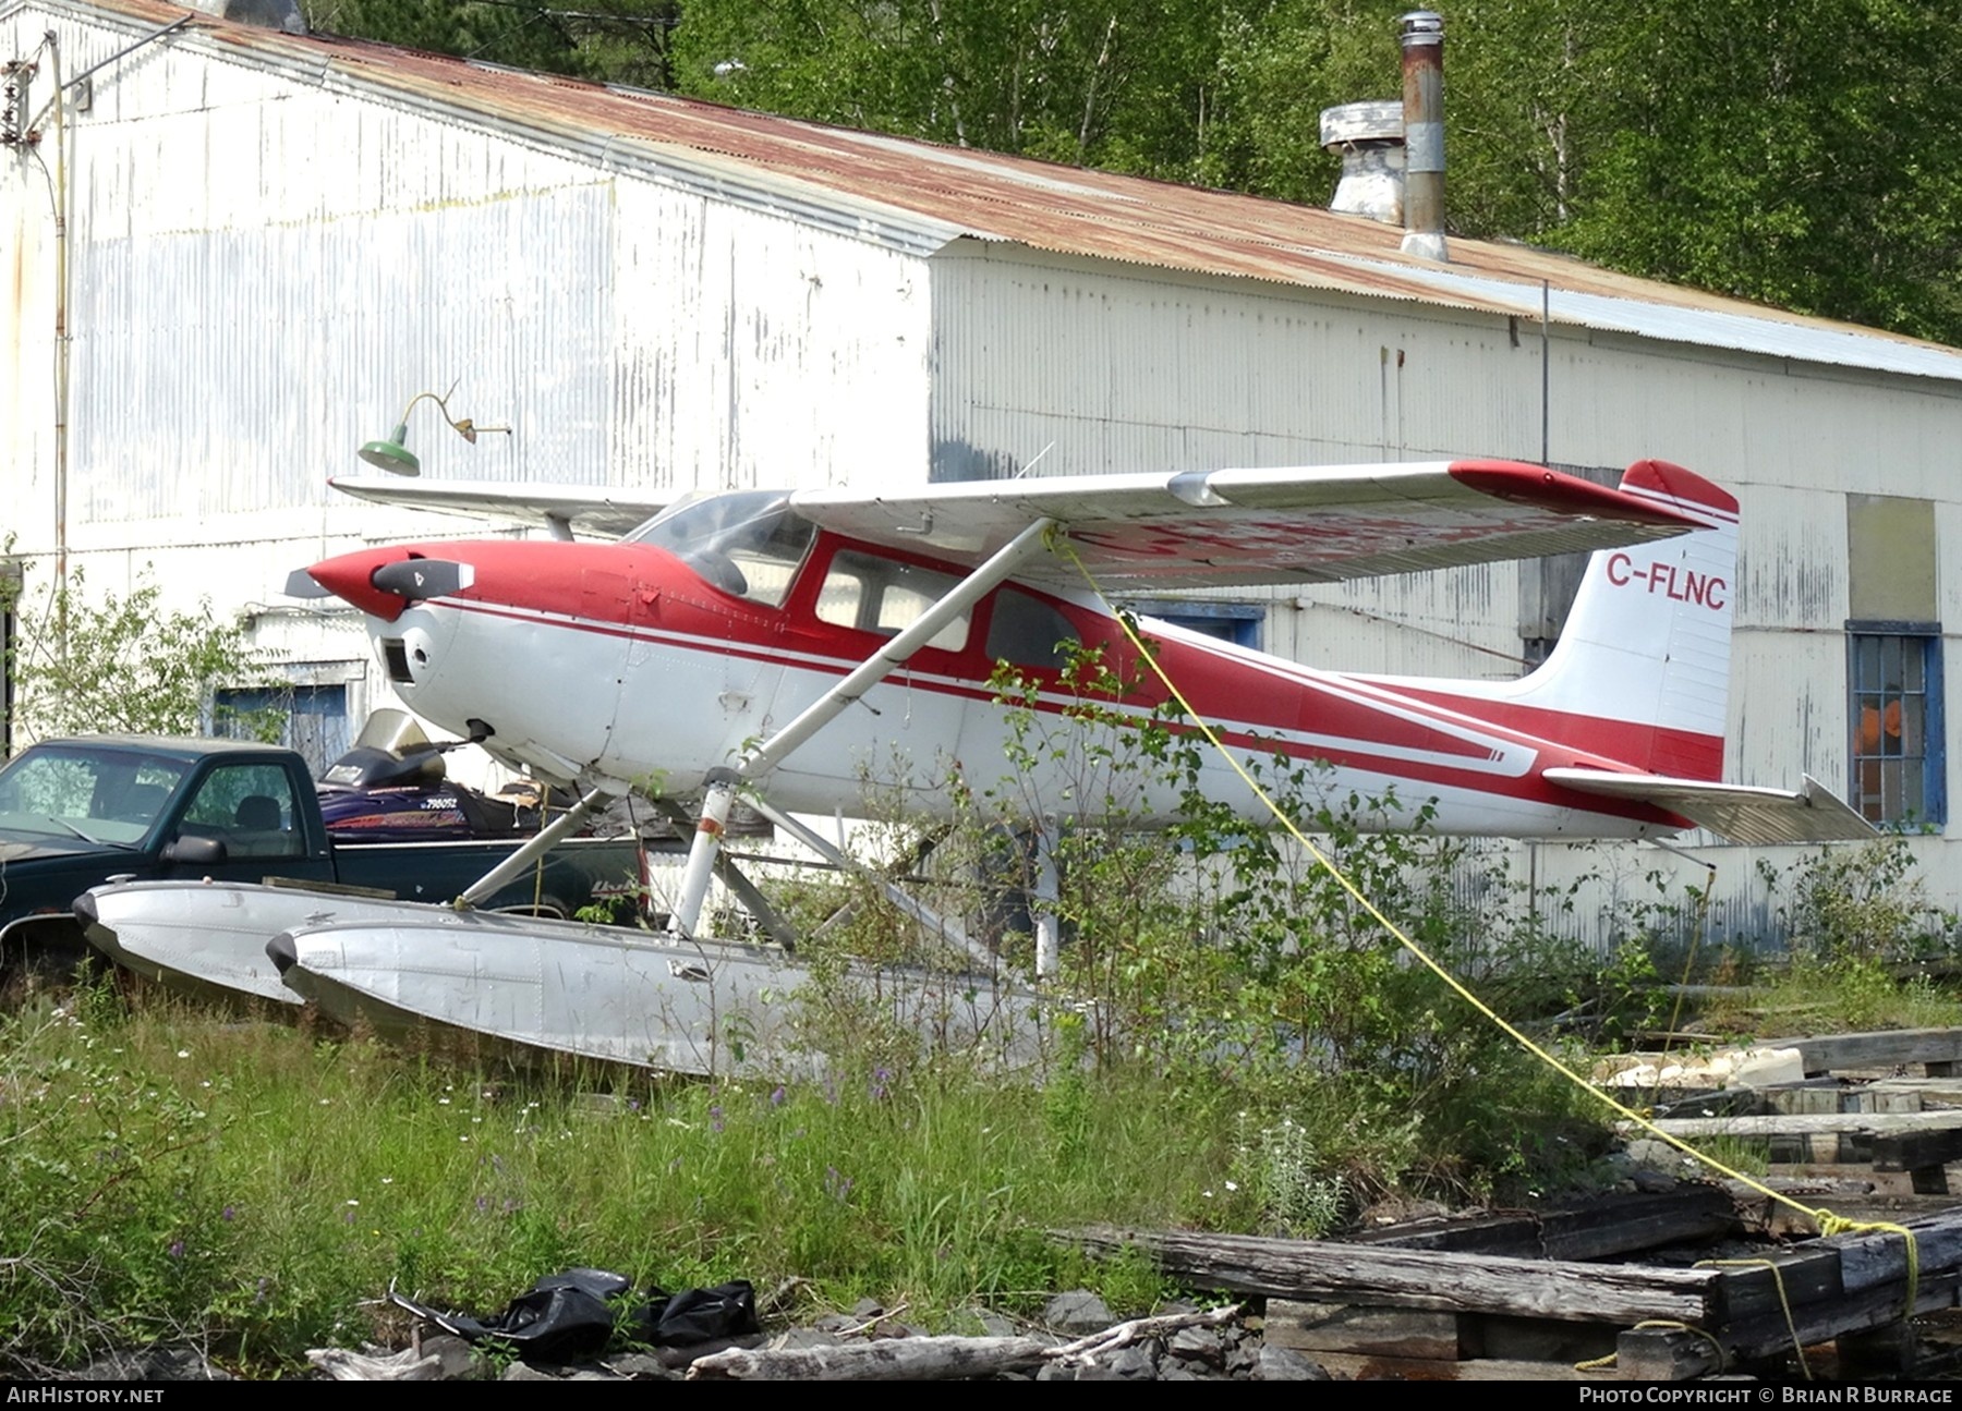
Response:
[[[1116,1228],[1067,1238],[1148,1252],[1195,1287],[1265,1297],[1267,1340],[1344,1378],[1787,1376],[1801,1346],[1819,1360],[1817,1344],[1829,1342],[1842,1370],[1913,1368],[1899,1234],[1752,1248],[1734,1238],[1736,1209],[1719,1187],[1621,1203],[1625,1217],[1597,1203],[1391,1228],[1366,1242]],[[1956,1307],[1962,1209],[1907,1227],[1919,1254],[1913,1313]],[[1630,1258],[1664,1244],[1668,1260]],[[1697,1262],[1685,1244],[1723,1258]]]

